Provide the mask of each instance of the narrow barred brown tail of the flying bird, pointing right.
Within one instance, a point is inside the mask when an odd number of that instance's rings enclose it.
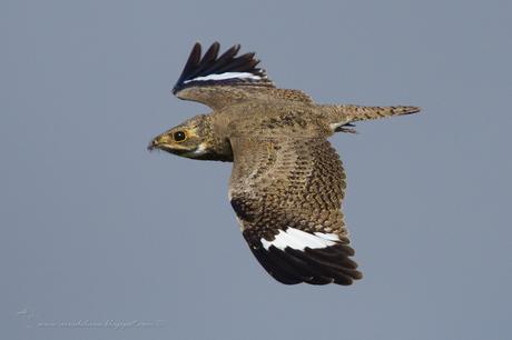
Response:
[[[351,122],[420,112],[417,107],[321,106],[334,131],[352,132]]]

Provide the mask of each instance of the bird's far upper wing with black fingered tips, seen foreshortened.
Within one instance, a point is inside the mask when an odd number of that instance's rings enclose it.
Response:
[[[201,57],[201,46],[196,43],[185,68],[173,88],[180,99],[207,104],[214,110],[248,99],[285,99],[312,102],[309,96],[298,90],[276,89],[265,70],[257,68],[255,53],[237,56],[235,44],[218,56],[220,44],[214,42]]]

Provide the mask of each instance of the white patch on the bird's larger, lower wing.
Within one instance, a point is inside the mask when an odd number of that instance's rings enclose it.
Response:
[[[336,244],[339,238],[335,233],[309,233],[295,228],[288,228],[286,231],[279,230],[273,241],[267,241],[262,238],[263,248],[268,250],[270,246],[284,250],[286,247],[304,251],[304,249],[318,249]]]

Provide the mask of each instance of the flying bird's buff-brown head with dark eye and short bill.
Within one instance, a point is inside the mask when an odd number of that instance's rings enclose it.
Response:
[[[155,137],[148,150],[164,150],[187,158],[201,158],[210,144],[211,128],[207,116],[196,116]]]

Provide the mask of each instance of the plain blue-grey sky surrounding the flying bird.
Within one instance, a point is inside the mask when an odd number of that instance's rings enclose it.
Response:
[[[511,339],[511,34],[510,1],[1,1],[0,338]],[[230,164],[146,150],[209,111],[170,96],[197,40],[423,108],[331,139],[364,280],[274,281]]]

